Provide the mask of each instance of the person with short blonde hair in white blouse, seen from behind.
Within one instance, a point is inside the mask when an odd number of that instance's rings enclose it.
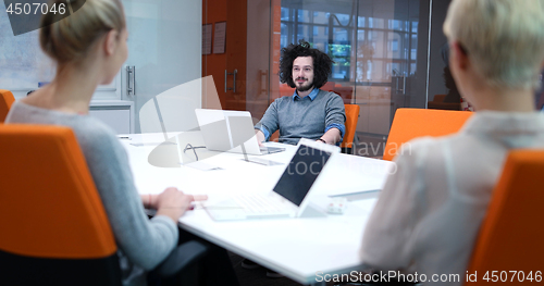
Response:
[[[434,274],[448,276],[441,285],[463,283],[506,154],[544,148],[544,114],[534,105],[542,27],[544,0],[452,1],[444,24],[449,67],[477,112],[458,134],[413,140],[411,152],[395,159],[398,172],[364,231],[366,264],[424,274],[424,285]]]

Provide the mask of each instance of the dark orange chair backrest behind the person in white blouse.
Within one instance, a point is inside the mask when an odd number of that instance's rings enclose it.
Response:
[[[480,234],[472,250],[468,273],[478,271],[478,283],[483,275],[497,271],[497,276],[507,274],[510,282],[521,282],[536,271],[544,270],[544,228],[541,225],[544,206],[544,150],[514,150],[507,159],[498,179]],[[509,271],[522,271],[512,274]],[[483,281],[485,283],[485,281]]]

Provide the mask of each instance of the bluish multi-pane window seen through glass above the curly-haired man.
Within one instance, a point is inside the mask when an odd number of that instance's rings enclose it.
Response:
[[[335,62],[331,79],[384,82],[390,80],[393,70],[416,72],[418,21],[387,18],[395,15],[386,12],[381,16],[374,12],[338,13],[341,9],[332,7],[342,5],[342,1],[304,2],[282,1],[288,7],[282,7],[281,47],[305,39],[326,52]]]

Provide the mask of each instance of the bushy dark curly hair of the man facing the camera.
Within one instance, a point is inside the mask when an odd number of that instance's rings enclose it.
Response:
[[[313,87],[320,88],[326,84],[329,75],[332,72],[333,60],[318,50],[311,49],[310,43],[304,39],[298,45],[290,43],[282,49],[280,59],[280,82],[287,83],[290,87],[296,87],[293,82],[293,62],[298,57],[311,57],[313,59]]]

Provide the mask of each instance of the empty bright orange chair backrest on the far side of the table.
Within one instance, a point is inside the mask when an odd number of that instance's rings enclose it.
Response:
[[[472,115],[467,111],[397,109],[390,136],[385,144],[383,160],[393,160],[403,144],[422,136],[444,136],[457,133]]]

